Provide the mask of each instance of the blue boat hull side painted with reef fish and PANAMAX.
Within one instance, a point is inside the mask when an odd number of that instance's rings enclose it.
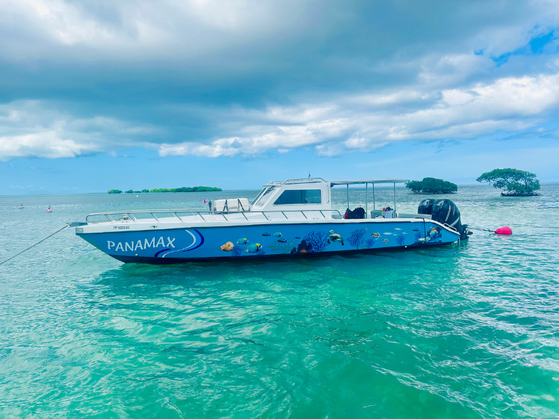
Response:
[[[184,263],[440,246],[458,234],[435,221],[285,223],[76,233],[126,263]]]

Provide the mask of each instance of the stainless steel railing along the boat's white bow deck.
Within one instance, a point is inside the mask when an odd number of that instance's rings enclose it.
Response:
[[[325,215],[324,213],[330,213]],[[301,214],[303,217],[301,220],[313,220],[313,219],[333,219],[333,214],[337,214],[340,219],[342,219],[342,214],[338,210],[292,210],[292,211],[238,211],[238,212],[215,212],[208,210],[133,210],[133,211],[111,211],[111,212],[96,212],[94,214],[89,214],[85,217],[85,221],[88,224],[96,223],[115,223],[115,222],[138,222],[140,220],[153,220],[155,222],[161,221],[161,219],[172,218],[178,219],[179,221],[201,221],[201,222],[211,222],[211,221],[278,221],[281,218],[277,218],[276,215],[281,214],[282,219],[285,220],[296,220],[296,217],[290,217],[289,215]],[[305,214],[307,213],[307,214]],[[168,214],[169,216],[161,216],[161,214]],[[182,215],[189,214],[189,215]],[[317,216],[320,214],[321,216]],[[242,215],[242,217],[240,217]],[[247,217],[248,215],[248,217]],[[207,218],[205,218],[206,216]],[[210,216],[212,217],[210,219]],[[259,218],[260,216],[260,218]],[[99,217],[99,219],[94,219],[94,217]],[[151,218],[150,218],[151,217]],[[195,220],[189,218],[196,217]],[[222,218],[220,218],[222,217]],[[337,218],[337,217],[335,217]]]

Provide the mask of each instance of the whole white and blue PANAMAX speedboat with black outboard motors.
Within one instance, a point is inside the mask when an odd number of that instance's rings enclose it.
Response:
[[[467,226],[449,200],[424,200],[417,214],[394,209],[341,214],[331,188],[396,184],[405,179],[269,182],[249,203],[216,200],[205,210],[145,210],[89,214],[75,233],[109,256],[133,263],[184,263],[238,258],[305,257],[322,253],[432,247],[466,240]]]

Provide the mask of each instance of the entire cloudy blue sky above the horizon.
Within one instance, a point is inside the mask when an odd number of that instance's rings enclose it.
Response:
[[[0,0],[0,194],[559,181],[558,1]]]

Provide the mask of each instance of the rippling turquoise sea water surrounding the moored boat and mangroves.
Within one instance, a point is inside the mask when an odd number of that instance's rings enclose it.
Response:
[[[122,265],[63,230],[0,265],[0,417],[557,418],[559,184],[542,192],[461,186],[465,223],[514,235],[428,250]],[[0,260],[90,212],[255,195],[3,196]]]

